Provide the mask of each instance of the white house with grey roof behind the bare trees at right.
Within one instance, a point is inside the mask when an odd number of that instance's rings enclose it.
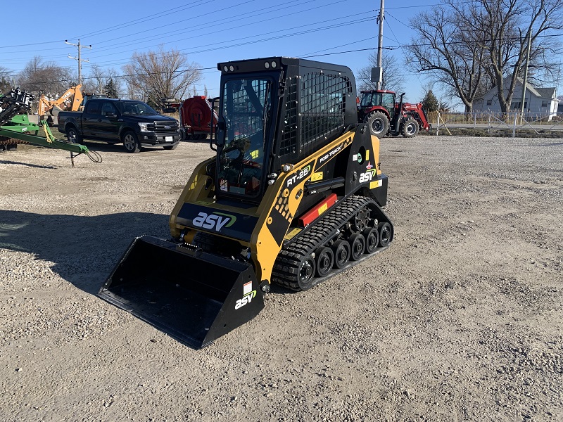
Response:
[[[510,77],[505,78],[504,87],[507,91],[507,85],[510,84]],[[514,94],[512,94],[512,103],[510,104],[511,112],[519,112],[521,110],[522,87],[524,83],[518,78]],[[533,87],[530,83],[526,83],[526,96],[524,100],[524,113],[534,115],[545,115],[550,119],[557,113],[559,98],[555,96],[557,88],[538,88]],[[506,96],[506,94],[505,94]],[[493,111],[500,113],[500,104],[498,103],[498,93],[496,87],[488,91],[480,100],[476,100],[473,104],[474,111]]]

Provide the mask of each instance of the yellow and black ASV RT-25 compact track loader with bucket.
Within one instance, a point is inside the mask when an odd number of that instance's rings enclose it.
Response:
[[[172,239],[136,238],[101,298],[192,347],[253,319],[271,283],[306,290],[388,247],[379,139],[349,68],[220,63],[214,158],[191,175]]]

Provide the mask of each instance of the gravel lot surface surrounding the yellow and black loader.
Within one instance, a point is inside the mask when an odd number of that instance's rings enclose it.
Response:
[[[2,421],[562,421],[563,144],[384,139],[391,248],[193,350],[97,291],[208,143],[0,153]]]

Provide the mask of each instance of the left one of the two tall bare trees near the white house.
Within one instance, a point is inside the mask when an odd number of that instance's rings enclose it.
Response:
[[[429,72],[446,88],[450,96],[461,99],[467,113],[483,93],[484,49],[478,28],[467,30],[462,15],[455,8],[434,6],[411,20],[417,32],[411,45],[409,65],[415,72]]]

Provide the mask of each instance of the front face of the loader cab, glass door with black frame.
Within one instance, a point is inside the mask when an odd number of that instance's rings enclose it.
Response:
[[[239,66],[235,70],[232,64],[223,65],[223,68],[220,65],[222,78],[215,177],[217,198],[258,203],[266,187],[269,167],[267,151],[272,151],[272,122],[277,113],[278,101],[275,99],[279,96],[281,69],[276,63],[267,70],[262,60],[260,65],[262,67],[258,69],[249,68],[249,72],[236,72]],[[229,71],[229,67],[233,70]]]

